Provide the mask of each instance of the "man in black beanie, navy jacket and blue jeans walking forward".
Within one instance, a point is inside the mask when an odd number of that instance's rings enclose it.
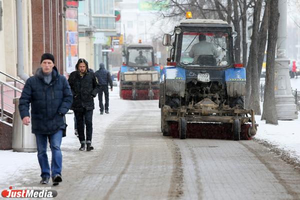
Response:
[[[41,184],[48,183],[50,177],[46,153],[49,136],[52,152],[51,176],[53,185],[57,185],[62,181],[60,143],[62,130],[66,128],[64,114],[72,104],[72,93],[65,77],[60,75],[54,66],[52,54],[42,54],[40,64],[41,67],[36,70],[35,75],[27,79],[18,108],[23,124],[30,123],[31,115],[31,131],[36,137]],[[29,115],[30,103],[31,113]]]

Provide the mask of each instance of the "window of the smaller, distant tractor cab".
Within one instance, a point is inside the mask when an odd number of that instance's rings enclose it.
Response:
[[[128,49],[128,66],[153,66],[152,49]]]

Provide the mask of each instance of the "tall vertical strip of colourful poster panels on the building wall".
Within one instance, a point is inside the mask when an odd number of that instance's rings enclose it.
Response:
[[[66,72],[75,70],[78,60],[78,18],[77,8],[65,10],[65,66]]]

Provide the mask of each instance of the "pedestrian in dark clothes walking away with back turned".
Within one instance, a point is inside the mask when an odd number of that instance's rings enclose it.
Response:
[[[96,70],[95,75],[99,81],[98,99],[99,99],[100,114],[103,114],[103,110],[105,110],[105,113],[108,114],[109,113],[108,112],[108,105],[109,105],[108,83],[110,86],[110,90],[112,91],[112,80],[109,71],[107,71],[104,67],[104,63],[99,64],[99,69]],[[102,103],[103,92],[105,98],[104,106]]]

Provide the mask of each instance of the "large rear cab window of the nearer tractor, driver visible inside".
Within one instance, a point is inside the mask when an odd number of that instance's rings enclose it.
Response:
[[[183,32],[180,64],[200,66],[228,65],[228,33]]]

